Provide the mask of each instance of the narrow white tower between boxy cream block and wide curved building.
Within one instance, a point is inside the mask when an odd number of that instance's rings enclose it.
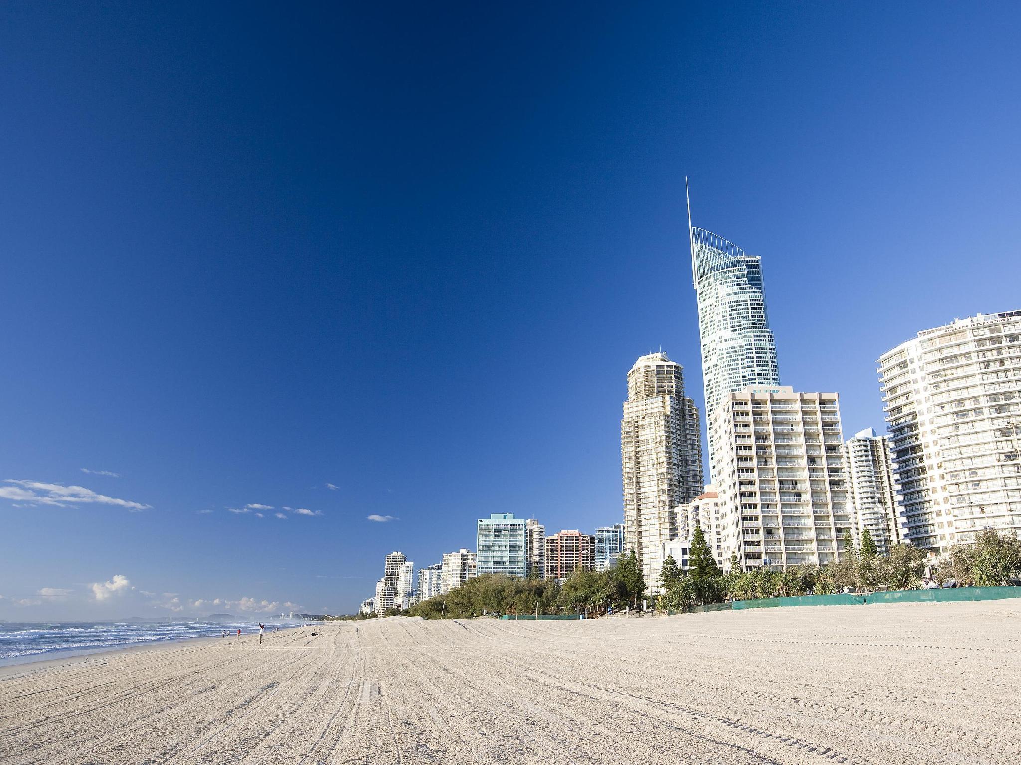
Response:
[[[844,441],[843,457],[855,536],[861,543],[868,530],[876,547],[885,554],[901,541],[900,506],[889,441],[868,428]]]

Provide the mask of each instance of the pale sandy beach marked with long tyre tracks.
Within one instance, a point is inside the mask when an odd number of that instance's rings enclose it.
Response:
[[[393,618],[0,673],[9,765],[1019,761],[1010,601]]]

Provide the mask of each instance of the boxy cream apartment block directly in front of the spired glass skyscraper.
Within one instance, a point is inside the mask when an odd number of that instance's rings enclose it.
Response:
[[[713,421],[718,560],[747,570],[838,560],[853,524],[836,393],[748,387]]]

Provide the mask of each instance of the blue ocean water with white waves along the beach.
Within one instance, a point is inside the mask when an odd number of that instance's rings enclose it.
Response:
[[[271,626],[265,622],[266,626]],[[297,626],[301,622],[273,622],[272,626]],[[19,664],[60,656],[109,651],[125,646],[145,646],[189,637],[216,637],[225,629],[243,634],[258,632],[254,621],[238,622],[52,622],[0,623],[0,665]]]

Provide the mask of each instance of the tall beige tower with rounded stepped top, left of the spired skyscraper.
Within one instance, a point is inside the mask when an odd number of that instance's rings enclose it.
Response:
[[[683,367],[666,353],[640,356],[628,372],[621,463],[624,552],[635,552],[646,582],[658,581],[663,542],[677,536],[676,509],[702,487],[698,410],[684,395]]]

